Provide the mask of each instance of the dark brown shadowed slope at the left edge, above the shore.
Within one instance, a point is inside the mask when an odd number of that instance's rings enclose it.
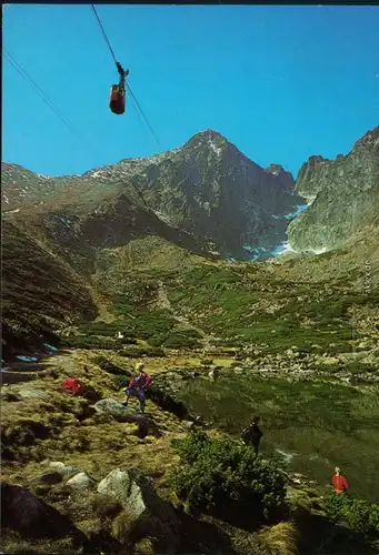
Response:
[[[84,280],[10,222],[2,222],[2,356],[42,347],[62,323],[93,319]],[[43,335],[43,337],[42,337]]]

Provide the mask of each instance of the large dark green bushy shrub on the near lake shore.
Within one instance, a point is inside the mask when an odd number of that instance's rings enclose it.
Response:
[[[271,521],[285,508],[285,477],[273,462],[257,457],[241,442],[211,440],[191,432],[172,442],[184,463],[171,476],[179,498],[200,511],[247,526]],[[248,517],[248,522],[246,518]]]

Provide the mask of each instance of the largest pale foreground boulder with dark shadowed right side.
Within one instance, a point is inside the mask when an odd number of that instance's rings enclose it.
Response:
[[[152,537],[159,553],[178,553],[181,522],[174,507],[161,500],[151,481],[129,468],[111,471],[98,485],[98,493],[111,496],[123,508],[129,539],[136,544]]]

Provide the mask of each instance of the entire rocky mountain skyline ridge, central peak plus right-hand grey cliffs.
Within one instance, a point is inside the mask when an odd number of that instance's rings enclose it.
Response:
[[[130,235],[146,233],[176,241],[183,232],[186,248],[191,238],[196,252],[208,246],[243,259],[249,256],[243,243],[270,249],[288,232],[296,251],[330,249],[378,221],[378,129],[335,161],[311,157],[295,185],[282,167],[260,168],[211,130],[179,149],[126,159],[83,175],[48,178],[2,164],[3,211],[27,226],[31,216],[43,220],[50,214],[53,226],[60,226],[57,236],[67,235],[68,220],[77,221],[84,228],[86,244],[97,246],[123,244]],[[278,214],[293,212],[303,199],[311,205],[287,229],[288,221]],[[123,222],[127,204],[134,215]],[[114,219],[120,206],[123,215]],[[122,232],[130,221],[131,233]]]

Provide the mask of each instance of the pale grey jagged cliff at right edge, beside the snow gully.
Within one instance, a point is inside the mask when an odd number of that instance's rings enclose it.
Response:
[[[296,188],[311,206],[288,229],[298,251],[333,248],[365,226],[379,223],[379,127],[336,160],[311,157]]]

